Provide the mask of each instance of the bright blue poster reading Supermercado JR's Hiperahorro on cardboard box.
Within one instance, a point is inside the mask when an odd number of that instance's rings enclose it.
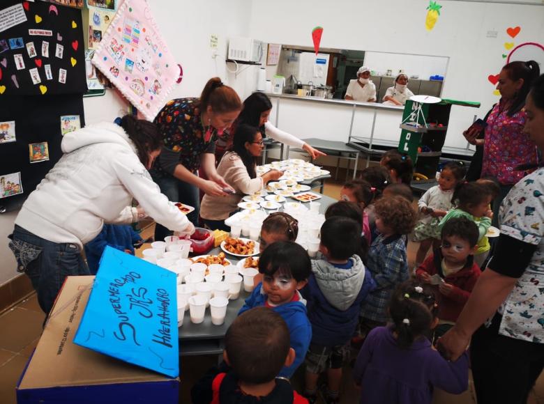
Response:
[[[74,343],[175,378],[176,274],[106,247]]]

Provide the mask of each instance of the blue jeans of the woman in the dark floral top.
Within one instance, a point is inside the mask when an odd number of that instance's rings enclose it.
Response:
[[[151,173],[153,181],[159,186],[160,192],[165,194],[169,201],[185,203],[195,208],[195,210],[187,215],[187,219],[195,226],[198,226],[198,217],[200,214],[198,187],[188,182],[180,181],[173,176],[158,174],[155,170],[151,170],[149,173]],[[174,232],[161,224],[156,224],[155,226],[155,240],[157,241],[163,241],[167,235],[172,235],[172,233]]]

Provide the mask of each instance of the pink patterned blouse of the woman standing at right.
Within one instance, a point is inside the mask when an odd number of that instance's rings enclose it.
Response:
[[[524,109],[508,116],[510,105],[500,100],[494,106],[485,127],[482,176],[494,176],[501,185],[513,185],[527,175],[515,171],[520,164],[536,163],[537,149],[534,141],[523,132],[526,114]]]

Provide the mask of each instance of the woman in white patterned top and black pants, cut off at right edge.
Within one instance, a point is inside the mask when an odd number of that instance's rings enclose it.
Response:
[[[534,82],[525,114],[524,132],[544,150],[544,75]],[[508,193],[499,219],[497,252],[439,349],[455,360],[471,343],[478,404],[525,404],[544,368],[542,164]]]

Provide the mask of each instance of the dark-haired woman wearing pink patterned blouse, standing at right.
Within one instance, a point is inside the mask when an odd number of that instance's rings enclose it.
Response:
[[[488,116],[485,138],[476,139],[477,130],[464,132],[469,143],[483,145],[481,176],[497,178],[501,185],[499,196],[493,202],[494,226],[498,224],[497,214],[504,196],[527,174],[515,168],[523,164],[534,164],[537,160],[536,145],[523,132],[523,126],[527,119],[524,110],[525,98],[531,83],[539,74],[536,61],[516,61],[505,65],[497,84],[501,100],[495,104]]]

